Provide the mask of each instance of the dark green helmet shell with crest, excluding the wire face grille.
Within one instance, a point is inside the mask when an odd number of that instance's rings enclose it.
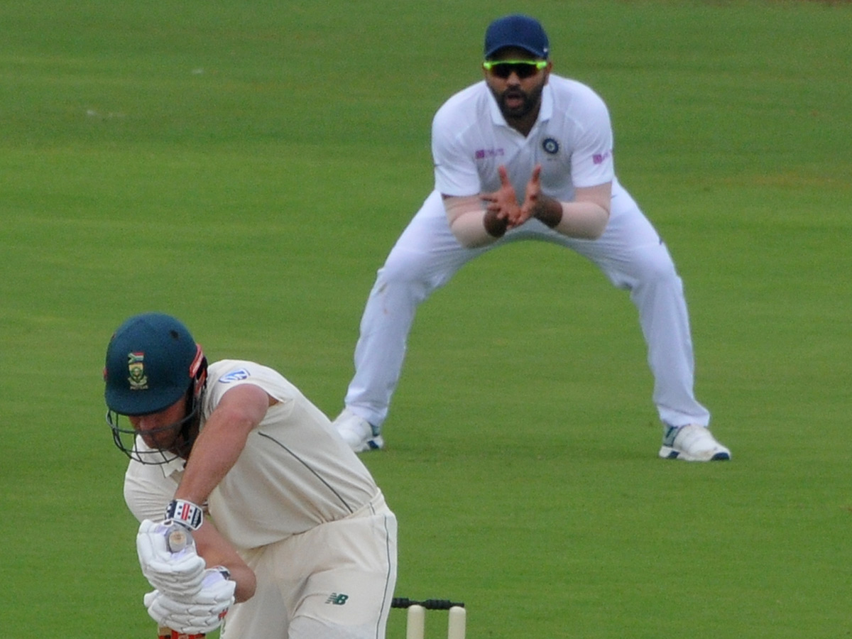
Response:
[[[107,347],[104,398],[121,415],[168,408],[193,383],[204,354],[180,321],[161,313],[135,315],[115,331]]]

